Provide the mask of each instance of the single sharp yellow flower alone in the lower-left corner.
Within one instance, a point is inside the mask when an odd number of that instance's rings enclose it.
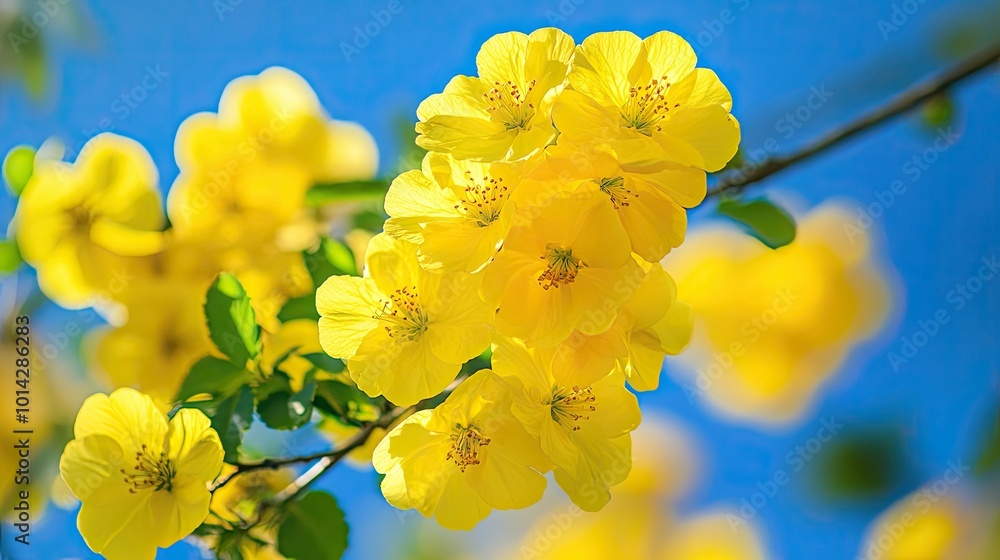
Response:
[[[133,389],[84,401],[59,470],[83,502],[77,527],[109,560],[152,560],[208,515],[207,484],[222,468],[222,445],[199,410],[167,422]]]

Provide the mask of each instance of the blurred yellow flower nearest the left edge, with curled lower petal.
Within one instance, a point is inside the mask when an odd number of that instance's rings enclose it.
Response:
[[[157,173],[133,140],[99,134],[74,164],[39,160],[18,201],[15,235],[47,296],[64,307],[120,289],[124,257],[163,247]]]

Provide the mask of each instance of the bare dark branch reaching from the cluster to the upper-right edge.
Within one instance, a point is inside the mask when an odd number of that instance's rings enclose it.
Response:
[[[841,129],[835,129],[825,137],[802,148],[796,153],[777,156],[765,160],[760,165],[746,165],[742,169],[727,174],[708,191],[707,196],[716,196],[728,191],[740,191],[747,185],[770,177],[792,165],[826,151],[869,128],[891,120],[944,92],[956,83],[980,72],[1000,60],[1000,45],[973,55],[956,64],[933,80],[915,85],[896,96],[889,103],[863,115]]]

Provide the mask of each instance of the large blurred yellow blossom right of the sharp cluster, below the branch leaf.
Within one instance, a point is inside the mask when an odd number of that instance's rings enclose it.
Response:
[[[695,314],[689,390],[760,422],[799,417],[851,349],[888,314],[886,279],[852,214],[817,208],[791,244],[771,250],[728,228],[689,236],[665,266]]]

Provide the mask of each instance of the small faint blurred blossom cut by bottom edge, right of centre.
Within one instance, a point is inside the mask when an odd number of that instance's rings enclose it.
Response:
[[[726,512],[686,519],[670,532],[655,558],[662,560],[765,560],[756,533],[748,526],[732,526]]]

